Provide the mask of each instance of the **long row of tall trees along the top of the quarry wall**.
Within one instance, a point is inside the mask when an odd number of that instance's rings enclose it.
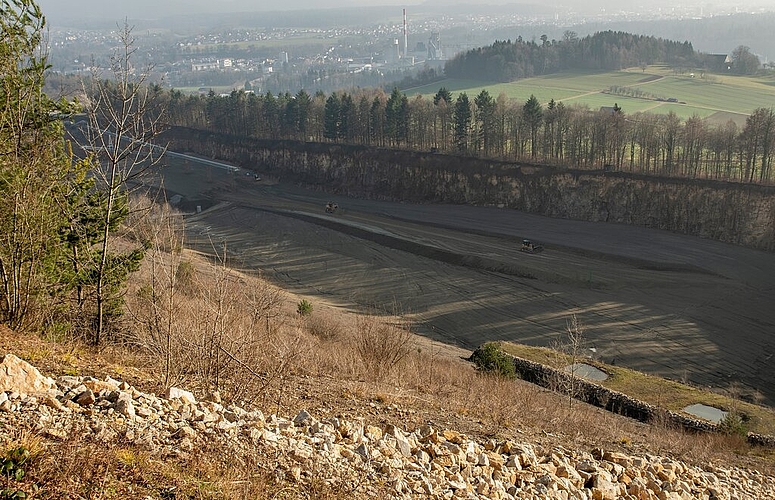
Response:
[[[628,114],[554,100],[525,102],[487,90],[453,97],[409,97],[398,89],[304,90],[295,95],[232,92],[167,96],[171,124],[264,139],[377,147],[608,169],[647,175],[749,183],[773,180],[775,111],[759,108],[735,122],[686,120],[674,113]]]

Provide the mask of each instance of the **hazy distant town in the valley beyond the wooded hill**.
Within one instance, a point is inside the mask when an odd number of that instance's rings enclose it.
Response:
[[[237,22],[233,15],[210,25],[196,19],[172,26],[131,19],[126,23],[132,28],[137,63],[151,65],[153,80],[160,85],[188,93],[328,92],[390,86],[420,73],[427,82],[443,75],[445,62],[456,54],[495,40],[553,40],[568,32],[584,35],[619,26],[679,41],[691,37],[697,50],[730,53],[738,42],[725,40],[724,31],[714,28],[721,23],[728,29],[735,27],[737,33],[748,33],[751,40],[746,45],[769,64],[775,42],[767,40],[768,32],[741,31],[739,26],[775,22],[775,14],[759,7],[741,12],[733,4],[716,5],[712,13],[707,9],[684,4],[648,13],[603,10],[589,15],[548,6],[522,6],[519,12],[505,6],[481,11],[380,7],[344,16],[341,25],[337,9],[321,10],[319,16],[252,13],[238,24],[229,24]],[[115,23],[95,29],[51,26],[52,72],[78,75],[107,68],[111,51],[120,45],[121,28]]]

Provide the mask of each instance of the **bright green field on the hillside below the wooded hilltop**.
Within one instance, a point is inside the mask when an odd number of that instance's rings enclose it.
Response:
[[[648,95],[662,99],[674,98],[679,102],[635,98],[607,94],[613,86],[639,89]],[[697,115],[713,119],[733,119],[745,123],[745,118],[756,108],[775,108],[775,78],[742,77],[731,75],[676,75],[669,70],[653,66],[642,71],[624,70],[605,73],[572,72],[526,78],[511,83],[487,83],[474,80],[446,79],[430,85],[415,87],[407,95],[432,97],[441,87],[452,91],[453,96],[466,92],[473,97],[486,89],[497,97],[503,93],[509,99],[526,101],[535,95],[543,104],[551,99],[565,104],[588,106],[598,109],[617,103],[625,113],[674,112],[680,118]]]

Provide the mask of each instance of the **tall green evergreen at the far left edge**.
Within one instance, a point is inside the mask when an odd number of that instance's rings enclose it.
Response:
[[[0,3],[0,321],[17,329],[41,326],[66,279],[52,272],[64,251],[56,235],[87,167],[63,140],[60,117],[74,107],[43,93],[44,26],[32,0]]]

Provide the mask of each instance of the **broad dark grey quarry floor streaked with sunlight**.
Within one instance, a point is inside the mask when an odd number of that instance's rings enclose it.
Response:
[[[550,345],[576,314],[602,361],[775,404],[775,256],[645,228],[513,210],[338,198],[191,164],[165,185],[190,244],[348,308],[393,302],[434,339]],[[326,214],[326,201],[341,209]],[[519,252],[521,238],[543,253]]]

